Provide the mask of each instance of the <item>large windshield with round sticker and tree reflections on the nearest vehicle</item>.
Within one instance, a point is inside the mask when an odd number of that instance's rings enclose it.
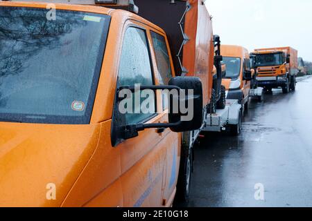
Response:
[[[107,15],[0,7],[0,122],[89,124],[109,24]]]

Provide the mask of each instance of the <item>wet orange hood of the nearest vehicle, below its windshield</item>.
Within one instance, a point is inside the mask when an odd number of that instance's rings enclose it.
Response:
[[[99,124],[0,123],[0,206],[60,206],[100,132]],[[56,200],[46,198],[51,183]]]

